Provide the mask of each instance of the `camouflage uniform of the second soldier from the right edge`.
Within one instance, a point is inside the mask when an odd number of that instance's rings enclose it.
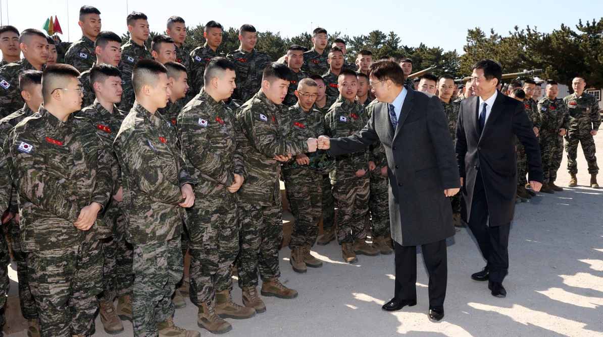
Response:
[[[538,111],[542,119],[540,129],[540,155],[544,167],[545,182],[554,182],[557,179],[557,170],[561,165],[563,156],[563,137],[559,135],[559,129],[567,130],[569,125],[569,113],[563,99],[551,100],[543,97],[538,101]]]

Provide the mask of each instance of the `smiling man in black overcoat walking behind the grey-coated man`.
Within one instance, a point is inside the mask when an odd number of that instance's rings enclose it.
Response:
[[[532,189],[540,191],[543,182],[540,147],[528,114],[521,102],[496,90],[501,76],[500,65],[492,60],[473,65],[475,96],[461,102],[456,124],[456,160],[463,186],[461,215],[487,261],[471,278],[488,281],[488,289],[496,297],[507,295],[502,281],[508,274],[507,247],[515,209],[516,136],[528,156]]]

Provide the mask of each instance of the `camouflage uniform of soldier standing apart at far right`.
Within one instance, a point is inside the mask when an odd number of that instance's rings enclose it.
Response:
[[[595,140],[590,134],[591,130],[598,130],[601,125],[601,114],[599,113],[599,102],[595,96],[589,93],[582,93],[582,96],[576,96],[576,93],[570,94],[563,99],[569,110],[569,129],[567,130],[566,152],[567,152],[567,171],[569,173],[578,173],[578,142],[582,144],[584,158],[589,165],[589,173],[596,175],[599,173],[597,158],[595,156]]]

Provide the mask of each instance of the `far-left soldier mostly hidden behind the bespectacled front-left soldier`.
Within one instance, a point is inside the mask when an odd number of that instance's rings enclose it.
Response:
[[[21,110],[4,117],[0,120],[0,144],[4,144],[9,132],[19,122],[26,117],[37,113],[42,104],[42,72],[39,70],[25,70],[19,75],[19,91],[25,105]],[[6,170],[4,172],[7,172]],[[8,173],[7,173],[8,176]],[[12,179],[11,181],[12,182]],[[2,189],[3,190],[3,189]],[[11,237],[11,250],[13,257],[17,262],[17,278],[19,279],[19,300],[21,301],[21,315],[27,320],[28,333],[31,336],[40,336],[40,326],[36,309],[36,302],[31,295],[30,285],[27,278],[27,265],[25,264],[25,253],[21,249],[21,235],[19,235],[19,205],[17,201],[17,192],[14,187],[11,189],[10,203],[8,205],[10,220],[4,226],[7,234]],[[2,239],[4,239],[2,233]],[[8,259],[8,250],[5,252]]]

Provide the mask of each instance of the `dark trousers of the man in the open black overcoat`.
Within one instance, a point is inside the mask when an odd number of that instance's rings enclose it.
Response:
[[[511,223],[501,226],[490,226],[488,221],[488,200],[484,189],[484,180],[481,173],[475,179],[471,214],[469,215],[469,229],[478,241],[479,250],[488,262],[490,280],[502,282],[509,269],[509,230]]]

